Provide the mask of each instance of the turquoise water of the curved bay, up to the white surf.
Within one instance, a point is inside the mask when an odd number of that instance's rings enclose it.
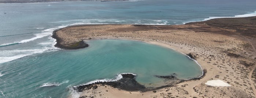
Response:
[[[162,46],[128,40],[92,40],[85,49],[59,50],[1,64],[1,91],[8,97],[66,96],[73,86],[135,73],[141,84],[160,86],[154,75],[198,77],[200,66],[188,56]],[[58,94],[56,94],[58,93]]]

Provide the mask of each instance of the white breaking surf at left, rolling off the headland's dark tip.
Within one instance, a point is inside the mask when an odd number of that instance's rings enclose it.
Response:
[[[67,24],[67,25],[62,25],[62,26],[58,26],[58,27],[53,27],[53,28],[49,28],[49,29],[45,29],[43,31],[41,31],[42,33],[39,34],[34,34],[36,35],[36,37],[30,38],[30,39],[24,39],[22,41],[19,42],[13,42],[13,43],[7,43],[7,44],[1,44],[1,46],[10,46],[10,45],[16,45],[16,44],[22,44],[22,43],[26,43],[26,42],[30,42],[30,41],[34,41],[36,39],[48,36],[48,35],[52,35],[52,32],[56,29],[60,29],[63,27],[67,27],[67,26],[71,26],[71,25],[81,25],[84,23],[73,23],[73,24]],[[50,40],[52,40],[51,42],[41,42],[39,43],[40,45],[51,45],[51,46],[44,46],[40,49],[22,49],[22,50],[2,50],[0,51],[0,63],[5,63],[8,61],[12,61],[12,60],[16,60],[25,56],[29,56],[32,54],[36,54],[36,53],[43,53],[43,52],[51,52],[51,51],[56,51],[59,50],[59,48],[56,48],[54,45],[56,44],[56,39],[53,39],[52,37],[49,37]]]

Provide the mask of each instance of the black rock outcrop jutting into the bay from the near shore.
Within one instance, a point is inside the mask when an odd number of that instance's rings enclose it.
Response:
[[[142,91],[145,90],[146,87],[144,85],[141,85],[140,83],[138,83],[135,80],[135,75],[130,74],[130,73],[126,73],[126,74],[122,74],[123,78],[118,80],[118,81],[114,81],[114,82],[96,82],[93,84],[87,84],[87,85],[81,85],[81,86],[77,86],[77,87],[73,87],[74,90],[77,90],[78,92],[82,92],[83,90],[89,90],[91,88],[96,88],[94,85],[95,84],[104,84],[104,85],[109,85],[112,86],[114,88],[120,88],[122,90],[126,90],[126,91]]]

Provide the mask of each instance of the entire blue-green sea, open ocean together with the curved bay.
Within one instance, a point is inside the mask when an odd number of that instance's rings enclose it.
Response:
[[[4,14],[6,13],[6,14]],[[256,16],[256,0],[63,1],[0,4],[0,98],[77,97],[72,87],[134,73],[145,86],[154,75],[179,79],[202,74],[192,59],[140,41],[87,41],[85,49],[55,48],[52,31],[76,24],[170,25],[223,17]],[[149,85],[151,84],[151,85]]]

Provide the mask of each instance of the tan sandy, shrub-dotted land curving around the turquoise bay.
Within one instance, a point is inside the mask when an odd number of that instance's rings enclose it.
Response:
[[[93,39],[144,41],[183,54],[190,53],[207,70],[200,80],[149,91],[126,91],[95,84],[96,88],[82,91],[80,98],[255,98],[256,17],[212,19],[171,26],[69,26],[54,31],[53,38],[57,39],[55,46],[62,49],[85,48],[88,46],[86,40]],[[230,86],[209,86],[205,84],[209,80],[222,80]]]

